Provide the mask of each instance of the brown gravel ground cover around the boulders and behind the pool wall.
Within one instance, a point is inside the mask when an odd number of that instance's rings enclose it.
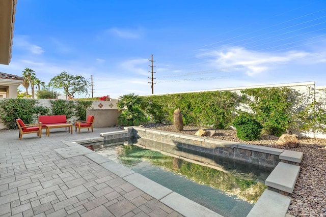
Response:
[[[143,127],[176,132],[173,125],[145,125]],[[200,127],[184,126],[183,134],[194,135]],[[180,132],[179,132],[180,133]],[[262,145],[304,153],[288,213],[294,216],[326,216],[326,139],[300,138],[300,146],[287,148],[276,145],[278,137],[262,135],[258,141],[242,141],[235,130],[216,129],[211,138]]]

